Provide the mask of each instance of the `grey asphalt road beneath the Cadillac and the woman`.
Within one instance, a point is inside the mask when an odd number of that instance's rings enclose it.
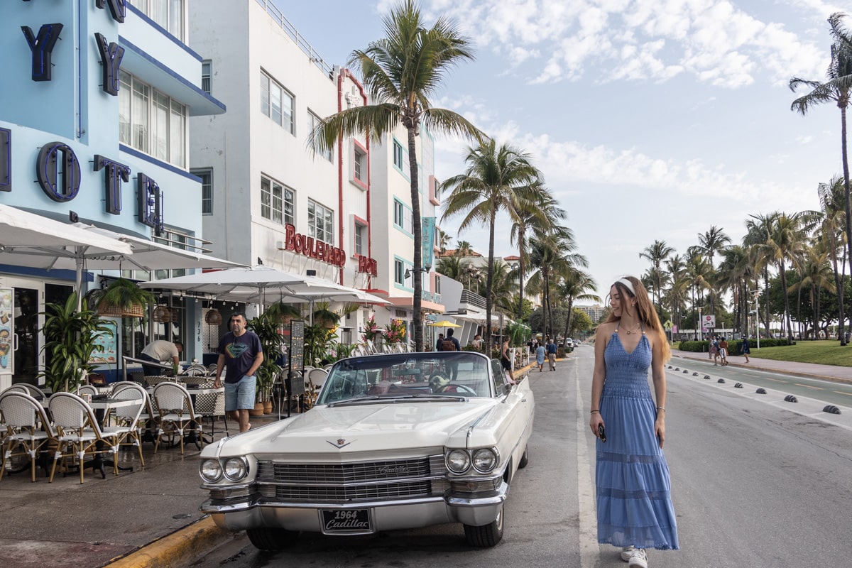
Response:
[[[512,485],[497,547],[468,548],[457,525],[348,538],[304,535],[276,554],[257,551],[239,535],[193,565],[625,566],[618,550],[596,542],[595,448],[587,425],[592,363],[592,347],[584,345],[556,372],[530,375],[537,403],[530,464]],[[842,394],[849,387],[706,369],[694,361],[674,360],[672,367],[665,452],[681,550],[649,551],[649,565],[848,565],[852,408],[842,407],[840,416],[820,409],[835,396],[852,399]],[[734,388],[736,382],[744,387]],[[758,382],[767,383],[767,394],[755,393],[763,386]],[[805,385],[799,402],[785,402],[797,385]]]

